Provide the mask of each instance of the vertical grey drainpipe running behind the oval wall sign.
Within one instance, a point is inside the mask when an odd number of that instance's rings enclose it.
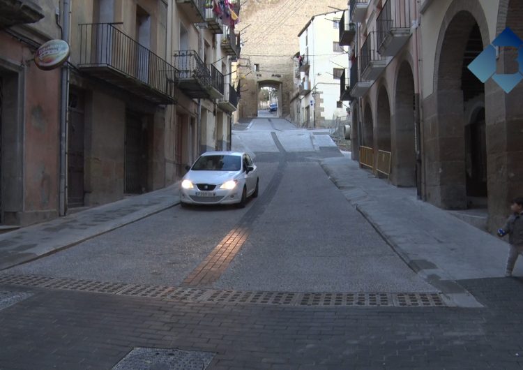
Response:
[[[63,0],[62,40],[69,43],[70,1]],[[59,161],[59,215],[66,216],[67,211],[67,110],[69,97],[69,66],[63,64],[61,71],[60,101],[60,161]]]

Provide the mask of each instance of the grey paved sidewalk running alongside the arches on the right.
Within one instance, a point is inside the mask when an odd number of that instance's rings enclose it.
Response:
[[[444,293],[472,304],[454,281],[503,276],[508,244],[359,168],[350,158],[321,162],[345,198],[358,209],[407,264]],[[515,269],[523,275],[523,266]],[[468,303],[467,303],[468,301]]]

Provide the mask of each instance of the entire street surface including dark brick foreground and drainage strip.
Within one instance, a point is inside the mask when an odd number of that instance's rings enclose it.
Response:
[[[263,117],[232,142],[261,174],[245,209],[171,207],[3,270],[0,369],[113,369],[133,348],[169,369],[520,368],[520,279],[460,280],[480,308],[446,304],[329,179],[326,130]]]

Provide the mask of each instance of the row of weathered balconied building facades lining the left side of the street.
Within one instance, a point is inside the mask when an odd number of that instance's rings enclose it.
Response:
[[[0,0],[0,227],[168,186],[230,148],[240,48],[204,0],[38,4]],[[34,53],[65,37],[66,5],[68,75],[42,71]]]

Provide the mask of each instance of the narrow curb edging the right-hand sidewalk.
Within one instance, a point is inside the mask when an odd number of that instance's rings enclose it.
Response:
[[[444,299],[446,301],[447,306],[450,307],[461,307],[461,308],[483,308],[483,304],[480,304],[476,300],[471,293],[465,288],[463,288],[457,281],[455,280],[441,280],[440,276],[437,274],[428,274],[426,272],[425,267],[418,264],[416,260],[411,258],[409,256],[409,253],[404,251],[402,247],[395,243],[391,237],[388,237],[386,232],[384,230],[381,230],[381,227],[377,222],[375,222],[372,219],[372,216],[361,207],[361,204],[365,204],[365,202],[369,202],[370,200],[367,200],[367,193],[361,188],[357,188],[356,186],[341,186],[338,183],[338,180],[333,176],[333,171],[331,168],[328,168],[328,165],[324,163],[324,161],[320,162],[321,168],[325,171],[326,175],[328,175],[328,178],[333,182],[333,184],[340,189],[340,191],[343,191],[344,189],[354,189],[354,191],[350,191],[350,193],[356,193],[356,197],[349,196],[349,193],[342,192],[345,199],[349,204],[356,208],[356,210],[363,216],[365,220],[367,220],[372,228],[376,230],[376,232],[379,234],[379,236],[384,239],[384,242],[388,244],[388,246],[391,247],[391,249],[394,251],[394,253],[397,254],[398,257],[401,258],[403,262],[416,274],[420,275],[423,280],[427,281],[427,283],[430,283],[430,285],[434,286],[434,288],[437,288],[441,291],[441,294],[444,296]],[[437,267],[437,266],[434,266]]]

